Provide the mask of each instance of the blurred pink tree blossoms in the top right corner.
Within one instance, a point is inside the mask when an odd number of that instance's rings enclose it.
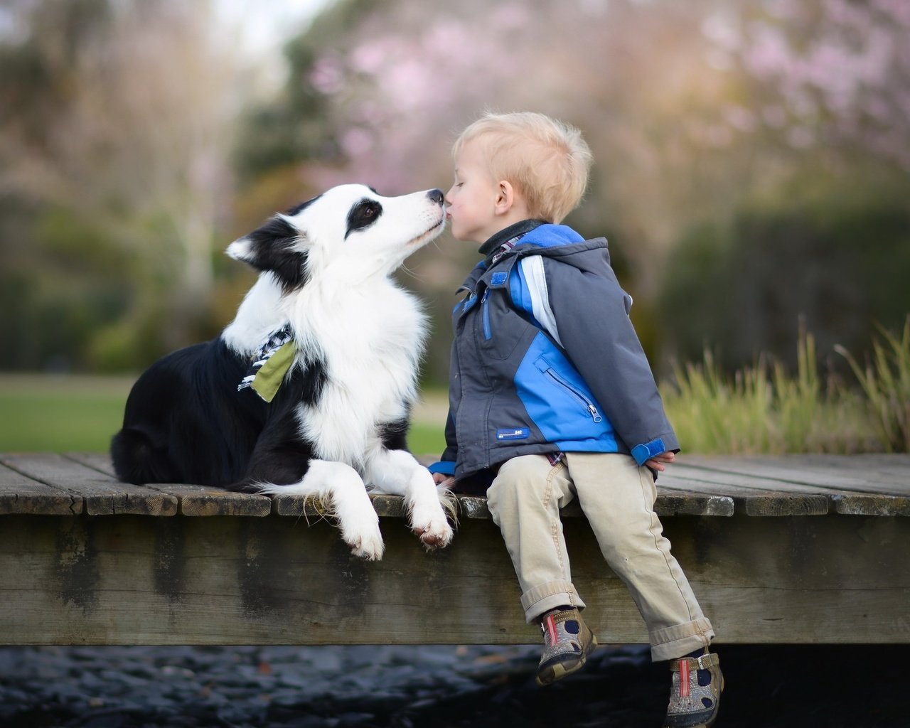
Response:
[[[740,71],[750,103],[731,112],[749,126],[910,172],[910,4],[774,0],[715,16],[708,35]]]

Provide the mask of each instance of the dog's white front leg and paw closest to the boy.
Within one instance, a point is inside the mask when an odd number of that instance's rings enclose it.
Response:
[[[452,528],[443,510],[454,516],[454,498],[437,490],[430,471],[406,450],[380,450],[370,460],[367,481],[378,490],[404,496],[410,513],[410,529],[428,549],[448,546]]]

